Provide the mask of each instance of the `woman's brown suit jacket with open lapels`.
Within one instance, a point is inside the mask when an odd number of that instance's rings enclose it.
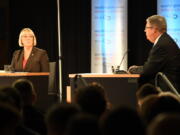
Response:
[[[24,50],[13,54],[11,67],[16,72],[49,72],[49,58],[45,50],[33,47],[29,59],[23,69]]]

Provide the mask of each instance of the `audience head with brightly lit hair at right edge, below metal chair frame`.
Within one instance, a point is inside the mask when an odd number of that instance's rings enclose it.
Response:
[[[171,92],[162,92],[158,95],[146,97],[140,109],[140,113],[147,124],[158,114],[180,112],[180,100]]]

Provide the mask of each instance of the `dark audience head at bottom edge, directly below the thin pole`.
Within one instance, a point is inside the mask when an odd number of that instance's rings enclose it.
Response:
[[[55,104],[46,114],[48,135],[62,135],[69,119],[80,112],[79,106],[70,103]]]

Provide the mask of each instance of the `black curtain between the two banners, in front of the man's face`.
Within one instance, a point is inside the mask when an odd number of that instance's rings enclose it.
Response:
[[[157,14],[157,0],[128,1],[128,66],[142,65],[152,44],[147,41],[144,28],[146,18]]]

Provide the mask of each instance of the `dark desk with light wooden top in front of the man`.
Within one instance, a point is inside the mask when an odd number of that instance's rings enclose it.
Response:
[[[81,79],[76,79],[80,75]],[[107,93],[112,106],[126,105],[136,108],[136,89],[139,74],[69,74],[71,98],[74,95],[74,89],[83,87],[83,81],[87,83],[100,83]]]

